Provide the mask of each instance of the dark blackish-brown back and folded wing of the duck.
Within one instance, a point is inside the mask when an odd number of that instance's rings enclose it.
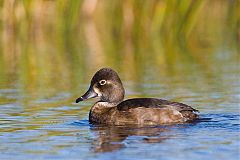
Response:
[[[198,110],[192,108],[189,105],[179,103],[179,102],[171,102],[164,99],[157,98],[134,98],[128,99],[117,105],[117,109],[119,111],[128,111],[129,109],[138,108],[138,107],[146,107],[146,108],[172,108],[178,111],[190,111],[190,112],[198,112]]]

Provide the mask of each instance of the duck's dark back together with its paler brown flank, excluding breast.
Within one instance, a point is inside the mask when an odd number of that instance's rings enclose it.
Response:
[[[139,123],[163,124],[193,121],[198,110],[183,103],[157,98],[128,99],[118,104],[119,112],[130,112]]]

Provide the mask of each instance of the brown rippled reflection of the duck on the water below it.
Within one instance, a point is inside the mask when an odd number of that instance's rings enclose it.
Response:
[[[96,133],[93,142],[94,152],[111,152],[126,147],[124,140],[131,136],[140,136],[143,143],[161,143],[171,138],[164,134],[170,131],[171,126],[102,126],[94,125],[91,130]],[[139,140],[139,138],[137,138]]]

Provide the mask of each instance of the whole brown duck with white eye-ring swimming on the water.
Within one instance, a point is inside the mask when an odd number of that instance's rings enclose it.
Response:
[[[180,102],[158,98],[124,100],[125,90],[118,73],[101,68],[92,77],[85,94],[76,103],[98,97],[89,112],[90,124],[161,125],[189,123],[197,120],[198,110]]]

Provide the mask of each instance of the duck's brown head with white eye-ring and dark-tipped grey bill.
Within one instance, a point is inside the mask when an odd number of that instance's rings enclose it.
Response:
[[[102,68],[95,73],[88,91],[76,99],[76,103],[89,98],[99,97],[100,101],[120,103],[124,99],[122,82],[114,70]]]

